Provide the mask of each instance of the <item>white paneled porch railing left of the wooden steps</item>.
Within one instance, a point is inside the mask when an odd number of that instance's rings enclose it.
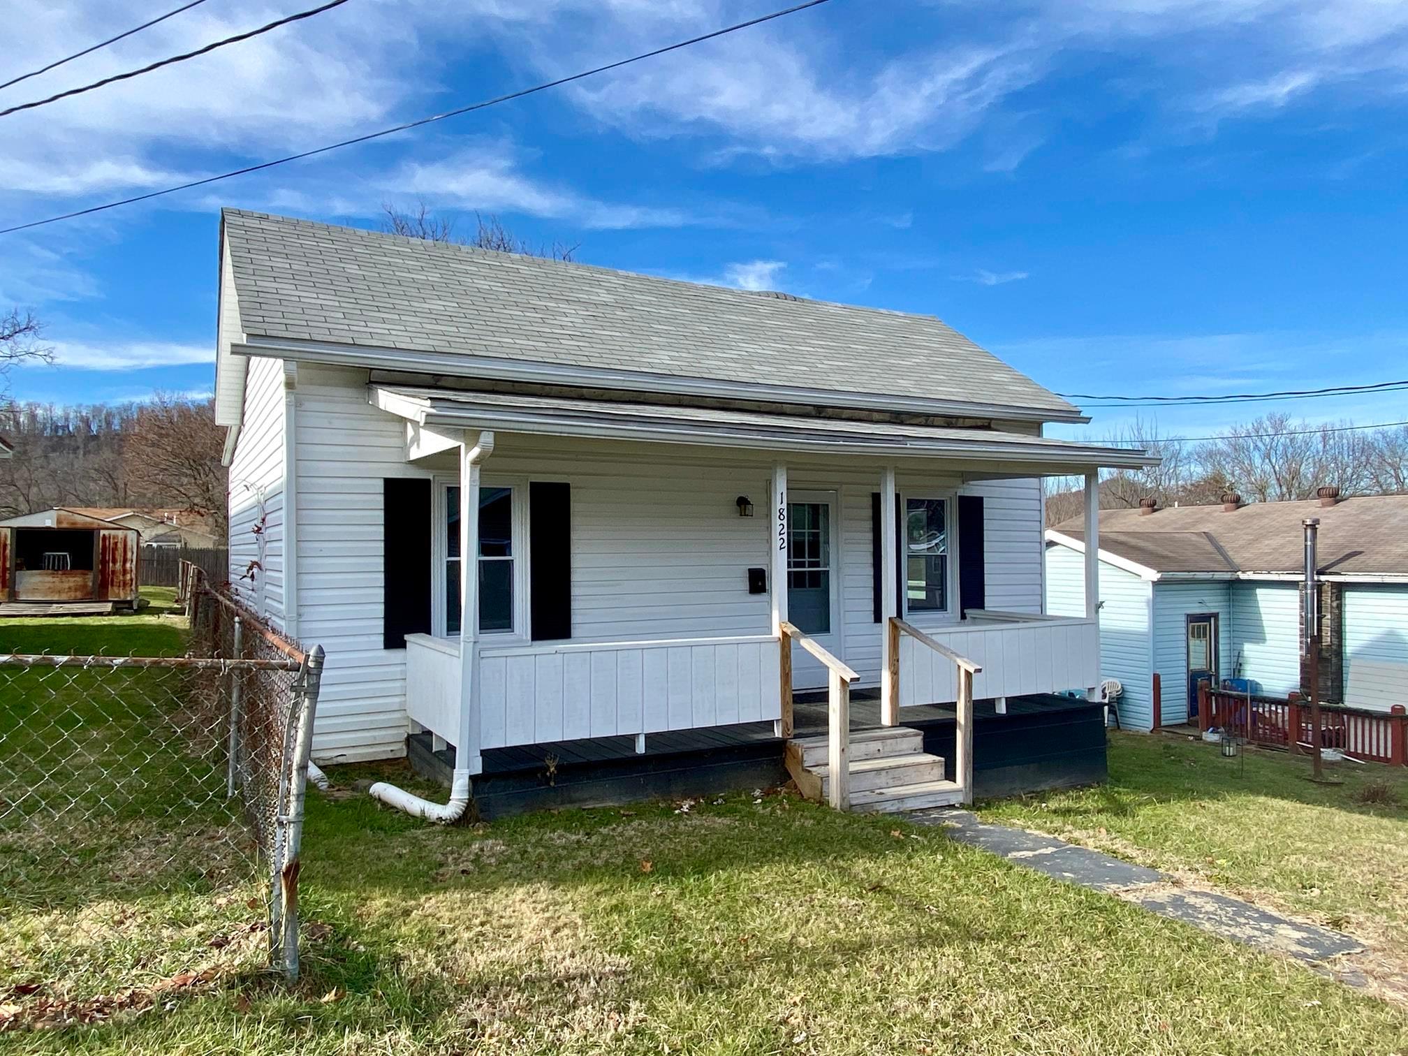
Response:
[[[772,635],[482,645],[480,748],[777,719],[779,665]],[[406,669],[411,721],[453,738],[459,642],[410,635]]]

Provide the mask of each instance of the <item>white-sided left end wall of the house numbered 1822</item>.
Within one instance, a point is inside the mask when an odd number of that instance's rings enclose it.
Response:
[[[230,583],[246,607],[279,631],[284,628],[283,434],[283,362],[251,359],[244,425],[230,462]],[[260,520],[263,531],[256,532]],[[262,567],[251,569],[251,562]]]

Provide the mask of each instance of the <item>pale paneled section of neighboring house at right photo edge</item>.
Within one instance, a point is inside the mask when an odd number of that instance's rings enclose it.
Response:
[[[1345,703],[1408,704],[1408,587],[1345,586]]]

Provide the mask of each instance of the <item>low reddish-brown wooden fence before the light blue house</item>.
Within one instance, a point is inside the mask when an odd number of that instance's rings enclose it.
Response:
[[[1231,729],[1255,745],[1287,748],[1312,742],[1311,708],[1300,700],[1277,700],[1198,687],[1198,727]],[[1408,765],[1408,714],[1401,704],[1388,712],[1321,704],[1321,746],[1371,763]]]

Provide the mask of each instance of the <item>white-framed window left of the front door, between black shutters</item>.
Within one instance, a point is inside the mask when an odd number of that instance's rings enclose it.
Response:
[[[479,634],[528,638],[528,486],[484,479],[479,484]],[[431,614],[435,634],[460,632],[459,477],[435,477],[431,546]]]

